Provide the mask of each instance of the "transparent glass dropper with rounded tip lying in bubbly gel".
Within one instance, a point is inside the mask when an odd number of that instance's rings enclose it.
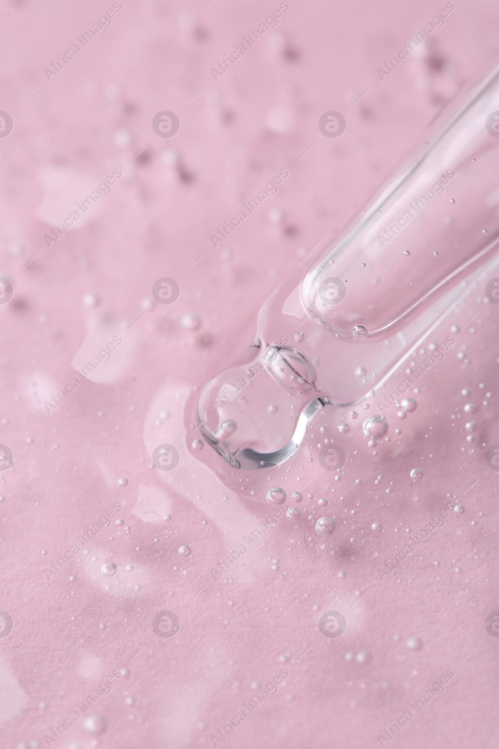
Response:
[[[290,458],[317,410],[373,395],[498,264],[498,138],[499,67],[349,231],[275,289],[247,361],[197,404],[201,434],[228,463]]]

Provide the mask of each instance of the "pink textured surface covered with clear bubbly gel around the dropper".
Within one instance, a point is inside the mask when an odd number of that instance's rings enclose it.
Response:
[[[112,3],[2,4],[0,109],[14,123],[0,139],[0,275],[14,288],[0,307],[0,442],[14,455],[0,473],[0,610],[13,620],[0,637],[5,749],[366,749],[447,670],[456,676],[444,694],[390,745],[498,745],[498,641],[485,628],[499,608],[497,475],[481,448],[498,441],[497,307],[466,306],[435,332],[443,340],[450,324],[480,313],[481,324],[457,334],[455,350],[425,375],[417,410],[403,422],[388,412],[391,442],[377,455],[361,437],[355,446],[356,429],[342,437],[352,460],[339,483],[307,459],[319,426],[337,434],[339,414],[317,419],[290,465],[242,481],[186,447],[193,387],[248,348],[261,303],[296,255],[340,228],[423,139],[492,54],[499,22],[492,4],[456,3],[382,81],[377,68],[444,2],[290,1],[277,28],[213,79],[217,61],[278,5],[123,1],[48,79],[44,69]],[[317,127],[330,109],[348,123],[338,140]],[[164,110],[180,118],[172,139],[151,127]],[[281,169],[290,177],[278,194],[215,249],[210,235]],[[47,246],[56,222],[114,170],[122,177],[111,192]],[[151,295],[164,276],[180,285],[171,306]],[[200,327],[189,328],[189,313]],[[44,402],[116,336],[111,359],[47,413]],[[466,402],[479,404],[478,446],[440,398],[461,415]],[[151,463],[164,442],[180,452],[171,474]],[[411,486],[414,467],[424,475]],[[271,520],[250,546],[243,537],[270,517],[265,495],[275,485],[307,485],[300,521]],[[465,512],[451,512],[381,580],[379,565],[405,544],[405,529],[423,528],[447,494]],[[320,497],[337,518],[325,540],[309,519],[319,517]],[[77,537],[112,508],[84,548]],[[371,531],[376,522],[381,533]],[[74,558],[47,574],[73,545]],[[239,545],[245,554],[214,575]],[[105,562],[116,576],[101,573]],[[174,637],[153,631],[162,610],[180,620]],[[328,610],[348,622],[338,639],[319,631]],[[411,637],[420,649],[408,647]],[[289,675],[277,693],[214,742],[280,671]],[[67,733],[44,738],[114,672],[123,673],[111,691]],[[92,733],[88,715],[107,728]]]

